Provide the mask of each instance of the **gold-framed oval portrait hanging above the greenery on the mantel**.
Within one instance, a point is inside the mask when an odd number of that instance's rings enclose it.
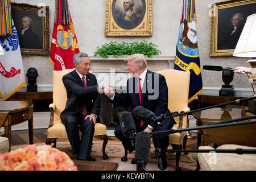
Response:
[[[152,0],[133,0],[132,8],[125,1],[105,0],[105,36],[152,36]]]

